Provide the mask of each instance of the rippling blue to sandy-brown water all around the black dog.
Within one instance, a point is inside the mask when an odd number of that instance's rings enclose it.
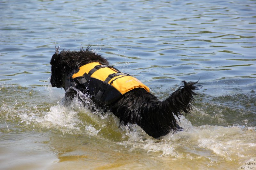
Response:
[[[1,1],[0,169],[237,169],[256,156],[256,3]],[[80,45],[160,99],[197,81],[185,131],[161,139],[50,85],[54,45]]]

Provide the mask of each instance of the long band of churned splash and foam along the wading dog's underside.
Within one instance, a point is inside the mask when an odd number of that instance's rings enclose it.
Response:
[[[138,125],[120,124],[119,119],[110,112],[104,113],[100,109],[92,111],[95,106],[84,94],[79,94],[83,97],[82,101],[75,98],[67,103],[64,99],[59,100],[60,97],[56,95],[55,99],[50,100],[51,103],[43,103],[48,96],[30,89],[20,88],[19,91],[14,91],[12,88],[5,88],[1,92],[8,94],[10,91],[16,98],[19,98],[19,95],[23,96],[23,100],[8,100],[8,96],[5,95],[0,111],[2,120],[7,122],[4,125],[8,131],[19,127],[25,130],[44,129],[43,131],[55,131],[64,135],[93,137],[99,141],[107,141],[111,146],[124,147],[128,152],[140,151],[173,159],[204,157],[211,161],[238,161],[248,156],[252,157],[256,150],[255,127],[246,124],[248,121],[243,122],[245,125],[235,123],[228,127],[207,123],[195,125],[189,121],[191,116],[194,116],[197,122],[205,116],[209,120],[214,119],[215,115],[209,114],[207,109],[202,109],[198,105],[190,117],[181,116],[180,126],[184,128],[183,132],[170,132],[160,139],[154,139]],[[29,97],[24,97],[26,95]],[[216,108],[218,107],[215,107],[215,112]]]

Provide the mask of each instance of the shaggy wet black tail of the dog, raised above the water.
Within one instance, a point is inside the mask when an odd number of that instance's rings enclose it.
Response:
[[[159,102],[157,108],[155,107],[158,122],[155,128],[157,127],[156,129],[158,130],[153,130],[154,132],[151,136],[163,136],[170,132],[170,127],[174,131],[182,130],[177,123],[176,117],[180,119],[180,115],[183,115],[183,113],[186,115],[191,112],[192,103],[194,101],[193,95],[197,95],[194,90],[199,90],[202,86],[195,85],[198,81],[188,83],[182,81],[181,83],[182,85],[178,90],[173,92],[166,100]]]

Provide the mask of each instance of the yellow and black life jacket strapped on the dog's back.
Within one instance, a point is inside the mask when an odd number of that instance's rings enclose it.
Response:
[[[149,88],[137,78],[98,62],[81,66],[78,72],[72,75],[72,79],[89,88],[90,94],[103,104],[109,104],[135,88],[144,88],[149,92]]]

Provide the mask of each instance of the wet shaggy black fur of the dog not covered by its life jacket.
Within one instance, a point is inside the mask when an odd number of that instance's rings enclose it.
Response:
[[[89,47],[86,50],[81,47],[80,51],[62,50],[60,53],[56,48],[50,62],[52,87],[64,88],[68,74],[92,62],[109,64],[106,58]],[[200,85],[195,85],[196,83],[182,81],[183,85],[164,101],[158,100],[143,88],[136,88],[125,93],[118,101],[101,107],[108,108],[120,118],[120,121],[139,125],[148,135],[155,138],[161,137],[171,130],[180,130],[175,117],[179,119],[183,113],[191,112],[193,95],[196,95],[194,90],[201,88]],[[67,90],[66,97],[69,94],[71,93]]]

